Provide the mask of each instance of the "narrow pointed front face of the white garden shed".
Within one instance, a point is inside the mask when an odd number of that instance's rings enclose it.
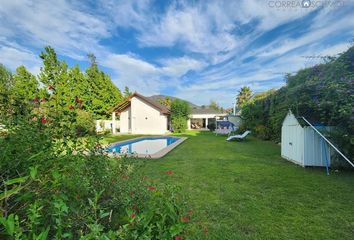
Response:
[[[304,129],[291,113],[284,119],[281,129],[281,156],[304,166]]]

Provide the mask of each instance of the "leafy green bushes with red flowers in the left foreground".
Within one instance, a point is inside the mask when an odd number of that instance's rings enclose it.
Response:
[[[8,131],[0,138],[1,239],[185,234],[185,201],[178,189],[141,176],[134,159],[101,154],[96,136],[78,138],[78,105],[56,107],[51,98],[33,104],[26,116],[3,118]]]

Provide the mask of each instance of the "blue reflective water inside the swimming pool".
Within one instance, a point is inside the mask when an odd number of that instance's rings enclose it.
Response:
[[[107,151],[121,154],[154,154],[176,142],[177,137],[146,137],[110,146]]]

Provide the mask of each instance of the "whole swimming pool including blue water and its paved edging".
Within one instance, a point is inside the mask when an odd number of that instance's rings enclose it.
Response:
[[[133,154],[138,157],[159,158],[167,154],[185,138],[157,136],[141,137],[110,145],[106,151],[111,154]]]

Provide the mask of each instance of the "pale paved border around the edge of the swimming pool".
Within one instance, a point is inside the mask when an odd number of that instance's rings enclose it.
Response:
[[[166,137],[166,136],[148,136],[149,138],[156,138],[159,139],[161,137]],[[170,137],[175,137],[175,136],[170,136]],[[144,139],[146,138],[146,136],[142,136],[142,137],[137,137],[137,138],[132,138],[132,139],[128,139],[128,140],[124,140],[124,141],[118,141],[118,142],[114,142],[109,144],[106,147],[112,147],[116,144],[124,144],[124,143],[129,143],[131,141],[135,141],[135,140],[139,140],[139,139]],[[137,158],[153,158],[153,159],[157,159],[157,158],[162,158],[163,156],[165,156],[167,153],[169,153],[170,151],[172,151],[175,147],[177,147],[178,145],[180,145],[182,142],[184,142],[185,140],[187,140],[187,137],[175,137],[178,138],[178,140],[170,145],[168,145],[167,147],[161,149],[160,151],[153,153],[153,154],[137,154],[137,153],[131,153],[131,154],[127,154],[127,153],[108,153],[109,157],[122,157],[122,156],[129,156],[129,157],[137,157]]]

